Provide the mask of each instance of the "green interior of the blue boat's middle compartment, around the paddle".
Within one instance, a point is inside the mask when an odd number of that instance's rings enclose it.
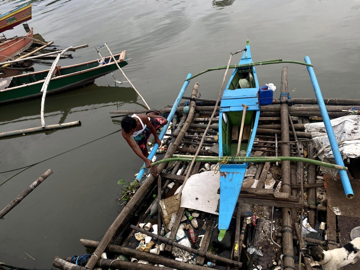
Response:
[[[243,112],[223,112],[226,114],[228,122],[225,123],[222,117],[222,153],[224,156],[235,156],[237,154],[241,119]],[[252,128],[255,122],[256,111],[247,111],[244,121],[244,131],[240,151],[246,152],[249,139],[251,138]]]

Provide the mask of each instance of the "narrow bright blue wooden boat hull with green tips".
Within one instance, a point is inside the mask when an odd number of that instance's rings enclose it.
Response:
[[[239,64],[252,63],[249,41]],[[239,85],[248,81],[246,86]],[[245,81],[246,82],[246,81]],[[238,139],[243,118],[244,106],[248,106],[244,117],[244,128],[240,150],[246,157],[250,156],[254,143],[257,124],[260,116],[259,84],[255,67],[235,68],[226,89],[221,97],[219,116],[219,156],[236,156]],[[220,121],[221,119],[221,121]],[[240,154],[241,155],[241,154]],[[229,160],[230,161],[230,160]],[[247,163],[224,164],[220,167],[220,211],[219,211],[219,241],[229,228],[240,189],[244,180]]]

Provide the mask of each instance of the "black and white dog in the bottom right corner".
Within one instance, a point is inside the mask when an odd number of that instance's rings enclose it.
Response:
[[[341,248],[325,251],[320,246],[302,248],[304,257],[318,261],[324,270],[338,270],[348,264],[356,264],[360,258],[360,237],[355,238]]]

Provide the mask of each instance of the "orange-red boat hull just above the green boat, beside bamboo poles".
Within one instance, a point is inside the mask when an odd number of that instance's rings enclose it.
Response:
[[[7,61],[28,49],[32,45],[32,37],[33,29],[31,28],[26,35],[0,43],[0,62]]]

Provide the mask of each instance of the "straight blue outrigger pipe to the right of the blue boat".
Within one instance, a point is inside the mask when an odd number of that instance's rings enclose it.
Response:
[[[304,59],[305,59],[305,63],[311,64],[310,57],[306,56]],[[326,110],[326,107],[325,107],[325,102],[324,102],[323,95],[321,94],[319,82],[318,82],[318,79],[316,79],[314,68],[309,67],[309,66],[307,66],[306,68],[310,75],[312,87],[314,87],[315,96],[316,96],[316,99],[318,100],[321,117],[323,117],[326,133],[328,134],[328,138],[329,138],[331,149],[334,154],[335,162],[337,165],[345,166],[344,161],[342,160],[342,157],[341,157],[341,153],[340,153],[337,141],[336,141],[333,127],[330,122],[328,111]],[[339,170],[339,174],[341,177],[341,182],[342,182],[342,186],[344,188],[346,197],[349,199],[354,198],[354,192],[352,191],[349,177],[347,176],[347,172],[345,170]]]

